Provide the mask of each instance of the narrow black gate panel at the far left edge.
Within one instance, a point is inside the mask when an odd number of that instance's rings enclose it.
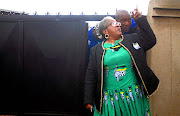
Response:
[[[0,109],[14,111],[23,99],[23,44],[18,22],[0,23]]]

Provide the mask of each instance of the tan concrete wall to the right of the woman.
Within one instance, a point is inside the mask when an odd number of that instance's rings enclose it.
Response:
[[[157,37],[148,63],[160,79],[152,116],[180,116],[180,0],[151,0],[147,17]]]

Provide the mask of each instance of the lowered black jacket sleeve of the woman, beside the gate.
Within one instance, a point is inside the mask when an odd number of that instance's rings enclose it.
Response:
[[[84,104],[93,104],[96,90],[96,69],[94,47],[90,50],[90,59],[86,69],[84,83]]]

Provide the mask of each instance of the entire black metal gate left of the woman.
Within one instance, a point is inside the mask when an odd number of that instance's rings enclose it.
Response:
[[[0,112],[80,115],[85,21],[0,21]]]

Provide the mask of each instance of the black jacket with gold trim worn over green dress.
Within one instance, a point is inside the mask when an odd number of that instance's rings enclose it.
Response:
[[[139,77],[138,79],[143,83],[149,97],[159,84],[159,79],[149,68],[146,61],[146,51],[156,44],[156,37],[146,17],[137,19],[136,23],[139,26],[140,34],[126,34],[119,44],[130,53]],[[84,104],[94,104],[95,102],[96,109],[99,112],[102,111],[103,97],[103,58],[105,54],[103,43],[91,48],[84,89]]]

